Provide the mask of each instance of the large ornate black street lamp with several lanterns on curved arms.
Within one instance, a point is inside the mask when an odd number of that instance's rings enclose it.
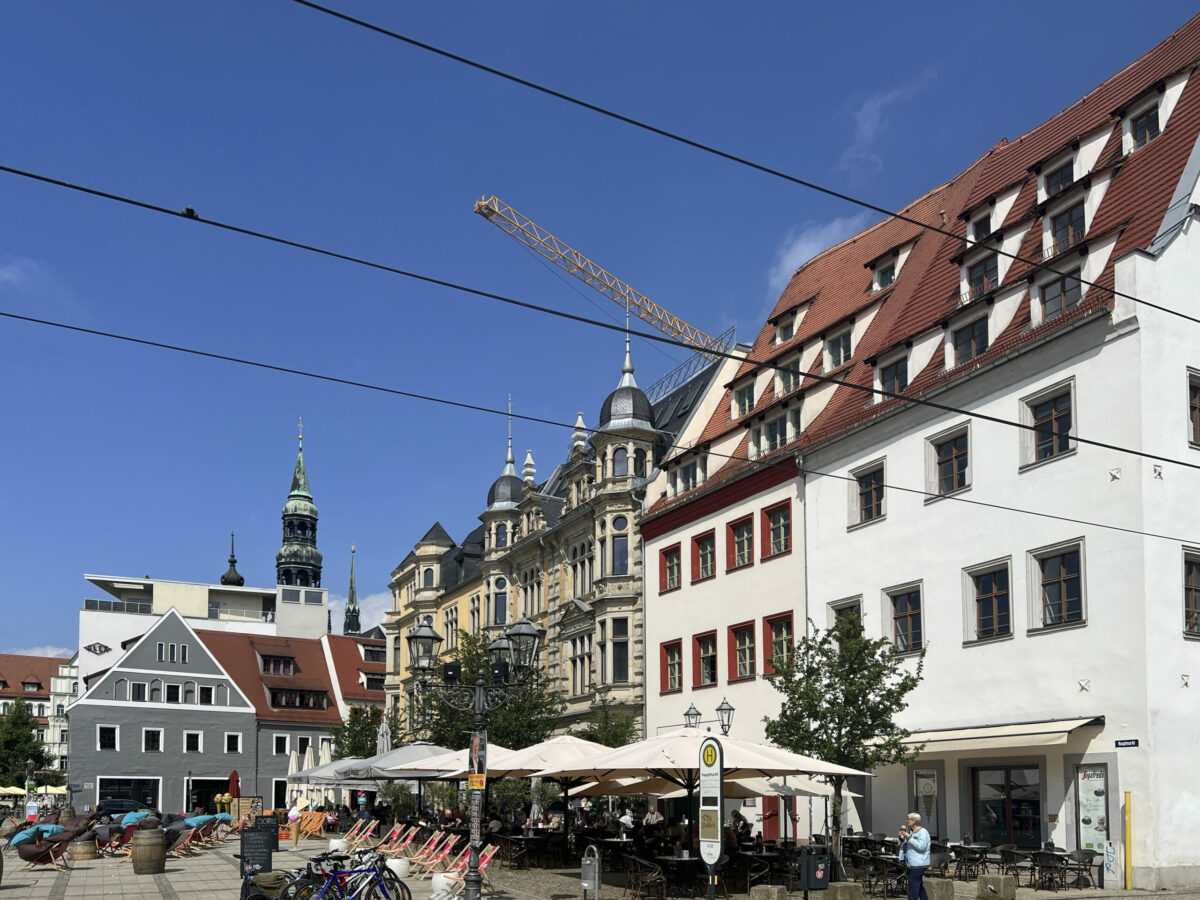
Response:
[[[455,709],[472,710],[474,715],[474,734],[472,746],[476,746],[484,721],[490,712],[528,684],[530,674],[538,664],[538,648],[545,635],[529,619],[514,622],[503,636],[496,638],[487,648],[492,680],[488,682],[482,668],[475,676],[474,684],[461,684],[462,668],[457,662],[446,662],[442,667],[442,682],[433,680],[433,670],[438,665],[438,650],[442,636],[433,630],[433,617],[426,616],[421,624],[409,632],[408,671],[416,678],[419,694],[434,695]],[[482,791],[472,790],[470,803],[470,852],[467,857],[467,875],[463,887],[467,900],[479,900],[482,876],[479,874],[479,850],[481,841]]]

